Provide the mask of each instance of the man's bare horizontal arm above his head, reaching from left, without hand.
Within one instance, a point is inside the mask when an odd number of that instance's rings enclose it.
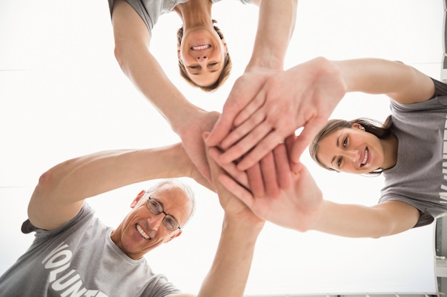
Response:
[[[52,197],[72,202],[149,179],[189,174],[180,144],[145,150],[109,150],[77,157],[44,173],[39,181]]]

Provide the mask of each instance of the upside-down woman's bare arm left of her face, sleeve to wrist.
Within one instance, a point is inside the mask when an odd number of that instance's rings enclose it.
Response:
[[[151,54],[148,29],[126,1],[115,1],[112,25],[114,53],[122,71],[176,131],[198,108],[184,98]]]

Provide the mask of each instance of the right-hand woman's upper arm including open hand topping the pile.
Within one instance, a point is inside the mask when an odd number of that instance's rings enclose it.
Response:
[[[400,103],[416,103],[433,96],[431,79],[403,63],[363,58],[328,61],[315,58],[269,79],[255,100],[236,117],[238,126],[222,141],[231,146],[222,162],[239,162],[246,170],[279,141],[303,127],[291,150],[291,161],[301,153],[347,92],[387,94]]]

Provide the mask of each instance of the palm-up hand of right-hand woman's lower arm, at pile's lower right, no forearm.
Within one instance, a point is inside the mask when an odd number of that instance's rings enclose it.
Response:
[[[210,155],[214,155],[214,158],[219,157],[219,150],[215,148],[210,150]],[[273,155],[277,163],[287,160],[283,145],[277,147]],[[281,165],[276,165],[278,166],[281,167]],[[300,164],[296,172],[289,173],[293,186],[289,189],[281,189],[281,194],[276,199],[253,195],[246,185],[259,183],[262,180],[248,181],[248,177],[243,174],[231,173],[232,176],[236,176],[236,180],[227,174],[219,174],[219,182],[261,219],[286,228],[306,231],[320,219],[323,195],[304,165]]]

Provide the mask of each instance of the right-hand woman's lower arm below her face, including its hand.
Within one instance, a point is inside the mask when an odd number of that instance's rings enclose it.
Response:
[[[272,162],[278,161],[278,155],[285,154],[286,150],[276,148]],[[216,160],[219,151],[213,149],[210,155]],[[282,160],[287,157],[283,156]],[[321,190],[302,164],[291,175],[292,187],[281,189],[278,197],[253,195],[245,187],[250,177],[242,174],[233,175],[236,180],[221,174],[219,180],[258,217],[297,231],[312,229],[338,236],[381,237],[411,229],[418,222],[418,209],[404,202],[383,202],[366,207],[323,200]],[[259,180],[248,181],[251,185],[256,182]]]

